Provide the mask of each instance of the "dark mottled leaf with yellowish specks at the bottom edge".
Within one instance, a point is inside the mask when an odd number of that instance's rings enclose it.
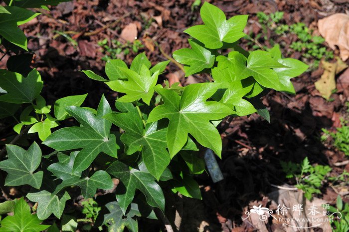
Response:
[[[108,231],[123,232],[126,227],[130,232],[138,232],[138,223],[132,219],[132,217],[141,216],[137,204],[131,203],[131,208],[126,215],[123,214],[118,202],[110,202],[105,206],[110,212],[104,215],[103,221],[103,225],[108,225]]]

